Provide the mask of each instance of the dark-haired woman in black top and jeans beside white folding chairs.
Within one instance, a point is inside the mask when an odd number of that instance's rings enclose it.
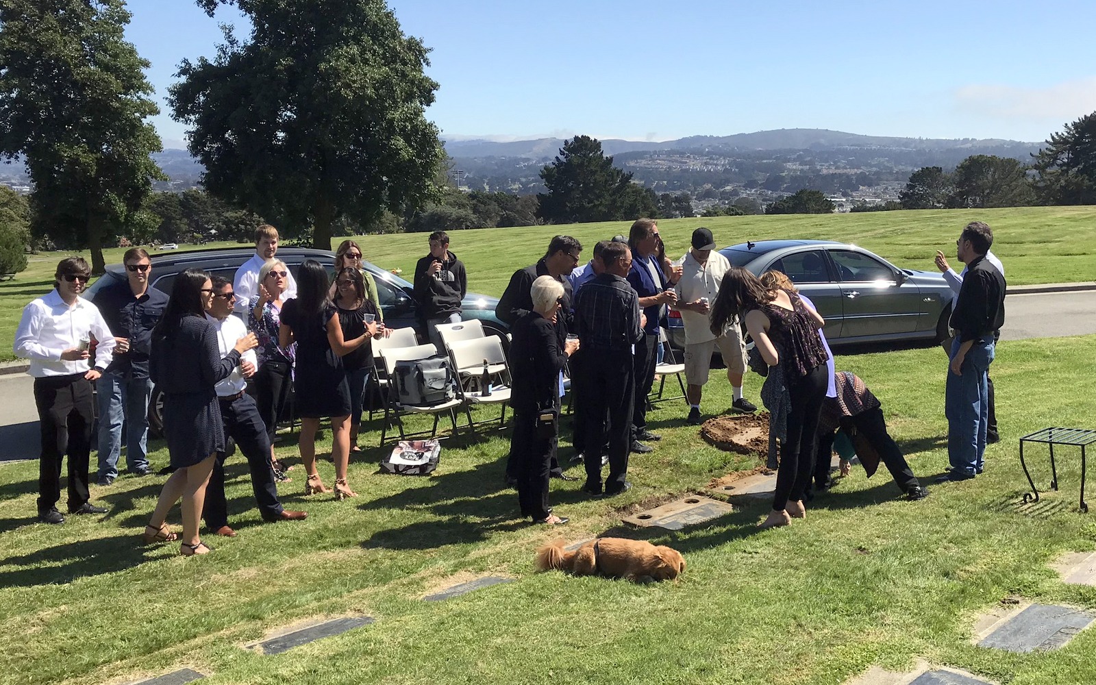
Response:
[[[343,330],[343,340],[354,340],[364,334],[373,338],[384,335],[385,329],[380,327],[377,306],[368,299],[365,279],[359,269],[344,266],[335,271],[334,304],[339,313],[339,326]],[[362,425],[362,404],[372,366],[373,345],[368,342],[343,356],[343,370],[346,372],[346,385],[350,387],[351,452],[361,452],[357,446],[357,431]]]

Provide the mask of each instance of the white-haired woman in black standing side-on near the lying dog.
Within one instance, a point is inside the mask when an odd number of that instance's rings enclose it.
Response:
[[[567,357],[579,349],[578,340],[563,341],[556,332],[556,315],[562,305],[563,286],[551,276],[533,282],[533,311],[520,317],[510,344],[510,406],[514,432],[510,454],[515,460],[517,503],[523,516],[534,523],[567,523],[548,506],[548,471],[556,456],[556,435],[537,431],[537,419],[548,410],[559,419],[559,373]]]

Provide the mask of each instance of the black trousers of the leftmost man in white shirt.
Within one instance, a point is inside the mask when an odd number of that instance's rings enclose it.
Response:
[[[88,464],[95,408],[91,381],[83,374],[34,379],[34,403],[42,430],[38,456],[38,513],[61,499],[61,459],[68,456],[68,509],[76,511],[90,498]]]

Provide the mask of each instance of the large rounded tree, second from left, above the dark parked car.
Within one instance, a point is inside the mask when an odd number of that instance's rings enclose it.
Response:
[[[437,83],[384,0],[198,0],[210,15],[220,1],[251,19],[250,39],[226,27],[169,98],[206,190],[289,233],[311,227],[324,249],[336,219],[421,205],[444,157],[425,117]]]

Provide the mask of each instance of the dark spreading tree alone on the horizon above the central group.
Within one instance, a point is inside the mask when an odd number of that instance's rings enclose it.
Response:
[[[556,159],[540,170],[547,193],[537,198],[537,216],[553,224],[612,221],[653,216],[658,197],[613,165],[602,144],[590,136],[563,142]]]

